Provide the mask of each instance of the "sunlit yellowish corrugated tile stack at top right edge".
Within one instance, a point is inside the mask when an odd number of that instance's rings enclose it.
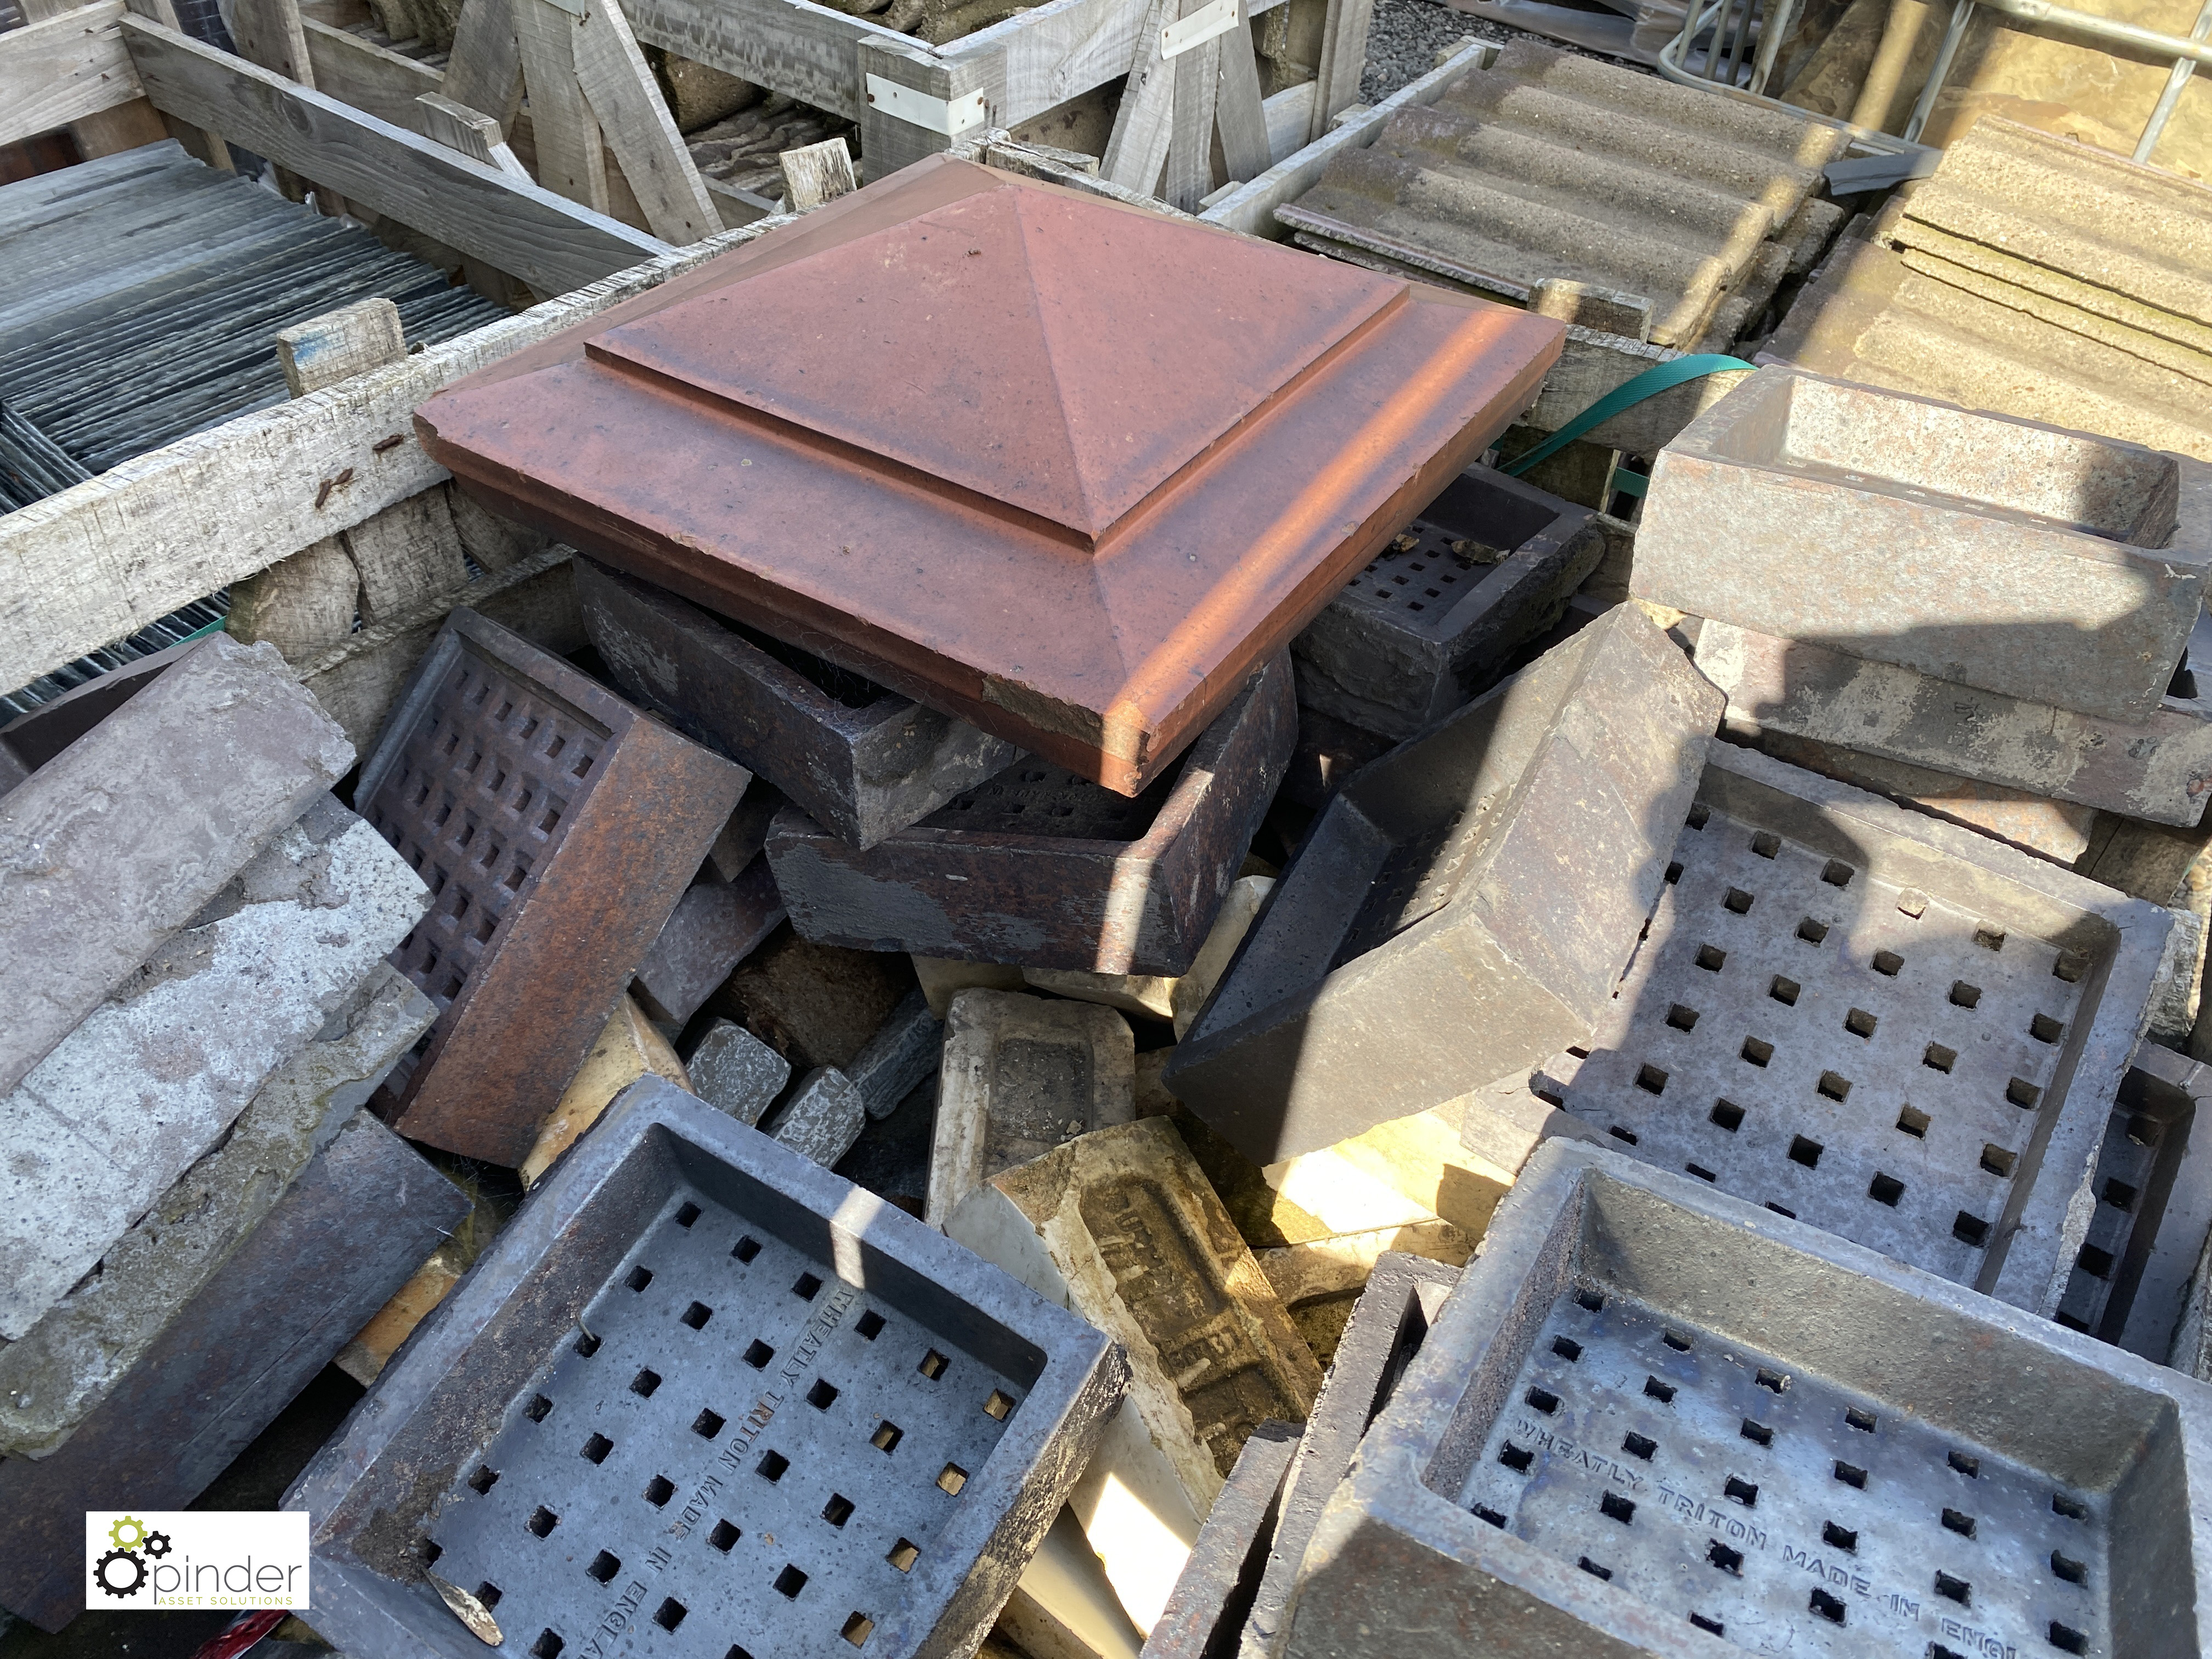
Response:
[[[2212,190],[1984,119],[1767,345],[1818,374],[2212,460]]]

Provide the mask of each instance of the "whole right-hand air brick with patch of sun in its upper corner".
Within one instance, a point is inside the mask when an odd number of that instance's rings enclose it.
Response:
[[[1566,1110],[2055,1314],[2172,914],[1721,741],[1672,858]]]

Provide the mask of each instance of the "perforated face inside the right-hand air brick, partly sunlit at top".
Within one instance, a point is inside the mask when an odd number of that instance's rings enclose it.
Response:
[[[2033,1177],[2090,964],[1699,803],[1566,1108],[1958,1283]]]

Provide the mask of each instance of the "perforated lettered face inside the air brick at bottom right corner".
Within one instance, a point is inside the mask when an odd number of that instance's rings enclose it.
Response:
[[[1551,1307],[1460,1502],[1752,1652],[2112,1652],[2108,1495],[1610,1290]]]

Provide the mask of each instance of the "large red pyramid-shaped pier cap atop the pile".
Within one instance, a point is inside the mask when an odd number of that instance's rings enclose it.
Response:
[[[1562,338],[933,157],[416,427],[489,507],[1137,794]]]

